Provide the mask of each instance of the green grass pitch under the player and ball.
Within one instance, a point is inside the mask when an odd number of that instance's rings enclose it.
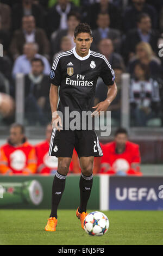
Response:
[[[49,212],[0,210],[0,245],[163,245],[162,211],[103,211],[103,236],[86,234],[76,210],[59,210],[57,231],[45,231]]]

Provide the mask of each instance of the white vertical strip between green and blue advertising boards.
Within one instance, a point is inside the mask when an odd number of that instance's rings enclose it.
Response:
[[[99,209],[109,210],[109,175],[101,174],[99,176]]]

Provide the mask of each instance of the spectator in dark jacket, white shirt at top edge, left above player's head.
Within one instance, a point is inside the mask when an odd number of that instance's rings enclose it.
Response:
[[[47,33],[49,36],[57,29],[67,29],[67,15],[71,11],[79,13],[78,7],[68,0],[58,0],[57,4],[54,5],[47,14],[48,27]]]

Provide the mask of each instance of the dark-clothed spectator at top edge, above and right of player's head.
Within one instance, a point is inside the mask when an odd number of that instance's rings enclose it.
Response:
[[[121,13],[119,9],[109,0],[100,0],[99,3],[92,4],[87,8],[85,21],[90,24],[92,29],[97,28],[96,21],[99,13],[109,14],[111,28],[121,28]]]

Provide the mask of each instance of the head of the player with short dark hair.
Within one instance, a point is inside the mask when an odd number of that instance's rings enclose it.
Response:
[[[80,57],[84,57],[89,53],[92,41],[93,38],[89,33],[80,33],[74,38],[76,52]]]

